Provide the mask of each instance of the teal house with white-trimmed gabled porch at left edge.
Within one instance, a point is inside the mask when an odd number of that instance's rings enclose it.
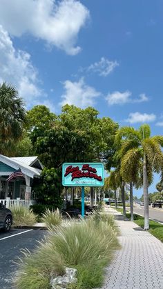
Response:
[[[0,200],[20,198],[29,201],[32,197],[32,181],[40,176],[42,168],[37,157],[0,155]],[[19,174],[15,173],[17,170]]]

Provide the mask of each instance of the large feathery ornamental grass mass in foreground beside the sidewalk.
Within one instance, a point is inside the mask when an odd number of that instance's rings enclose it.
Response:
[[[50,288],[50,279],[64,275],[66,267],[77,269],[77,283],[70,288],[97,288],[118,248],[117,234],[106,221],[97,223],[93,217],[70,220],[67,226],[50,230],[46,241],[32,255],[26,255],[17,272],[16,288]]]

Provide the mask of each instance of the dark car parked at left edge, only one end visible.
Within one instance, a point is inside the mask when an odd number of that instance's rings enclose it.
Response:
[[[5,232],[10,231],[12,225],[12,212],[0,203],[0,228]]]

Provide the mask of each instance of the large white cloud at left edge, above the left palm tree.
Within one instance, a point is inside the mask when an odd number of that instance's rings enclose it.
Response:
[[[30,54],[16,50],[8,33],[0,26],[0,82],[13,84],[27,106],[44,95],[37,86],[37,70],[30,61]]]

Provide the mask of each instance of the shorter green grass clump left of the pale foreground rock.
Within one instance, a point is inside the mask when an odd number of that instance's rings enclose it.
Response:
[[[50,278],[65,273],[61,255],[54,250],[51,243],[41,242],[33,254],[28,250],[23,250],[22,254],[14,281],[18,289],[51,288]]]

